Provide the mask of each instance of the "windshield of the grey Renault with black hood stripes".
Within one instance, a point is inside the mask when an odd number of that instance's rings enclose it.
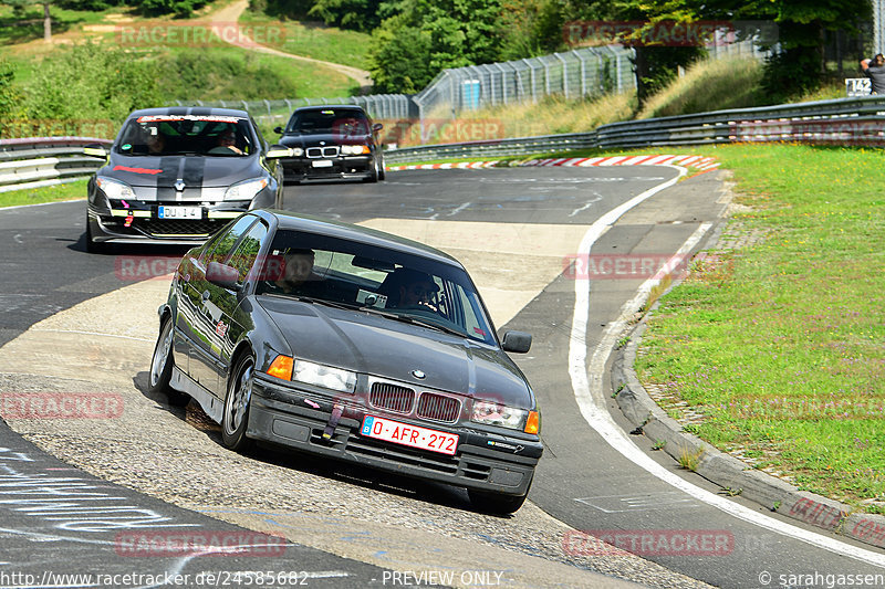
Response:
[[[253,144],[246,118],[149,115],[131,119],[114,149],[123,156],[244,157]]]

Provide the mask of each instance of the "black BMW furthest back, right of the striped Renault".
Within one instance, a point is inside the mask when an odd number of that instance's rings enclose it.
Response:
[[[296,108],[285,128],[274,129],[282,135],[280,144],[292,149],[291,157],[282,160],[287,182],[384,180],[384,155],[377,136],[382,128],[355,105]]]

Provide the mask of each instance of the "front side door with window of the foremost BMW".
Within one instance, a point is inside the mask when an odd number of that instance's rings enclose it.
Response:
[[[187,343],[188,376],[208,390],[214,390],[217,385],[211,350],[222,317],[218,306],[220,294],[216,293],[216,299],[211,301],[212,292],[220,287],[206,280],[206,269],[211,262],[227,261],[256,221],[257,218],[251,214],[241,217],[222,230],[223,233],[198,257],[189,260],[186,284],[181,288],[185,296],[180,299],[178,328]]]

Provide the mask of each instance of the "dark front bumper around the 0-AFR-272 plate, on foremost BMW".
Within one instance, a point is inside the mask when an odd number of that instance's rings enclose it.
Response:
[[[459,437],[454,456],[385,442],[360,434],[365,408],[343,400],[339,402],[345,406],[344,412],[334,425],[331,439],[325,440],[323,432],[330,425],[333,401],[277,386],[256,375],[247,435],[387,472],[504,495],[524,495],[528,492],[543,452],[540,441],[513,439],[460,425],[413,422],[402,416],[372,410],[372,414]]]

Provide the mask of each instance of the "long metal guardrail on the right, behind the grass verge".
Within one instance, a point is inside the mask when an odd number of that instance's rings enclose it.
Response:
[[[585,148],[796,141],[885,146],[885,96],[736,108],[603,125],[591,133],[392,149],[387,164]]]

